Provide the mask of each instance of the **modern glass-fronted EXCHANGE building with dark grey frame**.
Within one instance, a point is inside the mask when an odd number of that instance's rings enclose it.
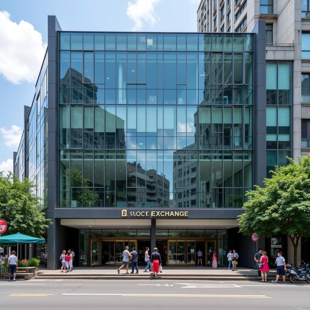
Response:
[[[140,260],[156,246],[169,266],[196,265],[199,249],[210,266],[216,250],[225,266],[229,249],[253,246],[237,233],[245,193],[266,176],[266,150],[291,151],[291,64],[268,64],[286,79],[266,96],[265,31],[65,32],[48,17],[14,154],[53,222],[33,250],[48,269],[63,248],[81,266],[116,266],[125,245]]]

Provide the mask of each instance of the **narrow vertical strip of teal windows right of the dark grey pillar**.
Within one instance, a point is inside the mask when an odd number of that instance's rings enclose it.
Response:
[[[291,157],[292,63],[266,62],[266,175]],[[281,77],[281,78],[280,78]]]

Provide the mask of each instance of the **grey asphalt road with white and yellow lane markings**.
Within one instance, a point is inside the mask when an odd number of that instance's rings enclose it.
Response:
[[[310,308],[310,284],[256,281],[0,280],[2,308],[286,310]],[[207,305],[207,307],[206,307]]]

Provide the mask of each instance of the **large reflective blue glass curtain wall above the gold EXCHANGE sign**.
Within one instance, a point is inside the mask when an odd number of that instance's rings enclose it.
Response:
[[[60,33],[61,207],[241,207],[251,34]]]

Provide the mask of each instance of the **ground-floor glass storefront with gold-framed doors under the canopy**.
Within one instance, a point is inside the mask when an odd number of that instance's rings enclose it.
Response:
[[[89,237],[94,235],[92,231],[96,237]],[[144,262],[145,248],[151,247],[149,229],[103,229],[100,234],[95,229],[81,229],[79,241],[80,266],[119,265],[127,245],[130,251],[135,247],[139,261]],[[156,246],[163,265],[195,266],[198,250],[203,253],[203,265],[212,264],[214,250],[219,266],[227,265],[227,230],[156,229]]]

